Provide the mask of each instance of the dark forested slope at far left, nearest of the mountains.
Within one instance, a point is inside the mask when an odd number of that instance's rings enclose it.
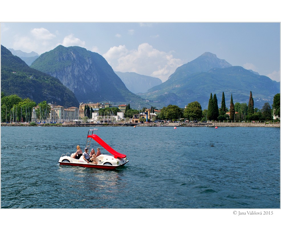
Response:
[[[5,95],[16,94],[36,103],[47,101],[64,107],[78,107],[72,91],[58,79],[30,68],[18,56],[1,45],[1,91]]]

